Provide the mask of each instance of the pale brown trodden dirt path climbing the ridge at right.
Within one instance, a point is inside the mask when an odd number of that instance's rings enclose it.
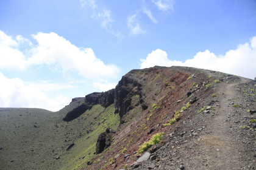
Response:
[[[215,107],[215,117],[208,124],[210,132],[197,139],[205,169],[241,169],[244,166],[240,162],[239,135],[234,127],[236,124],[230,120],[234,114],[234,107],[230,103],[238,97],[235,93],[237,84],[221,86],[217,94],[219,103]]]

